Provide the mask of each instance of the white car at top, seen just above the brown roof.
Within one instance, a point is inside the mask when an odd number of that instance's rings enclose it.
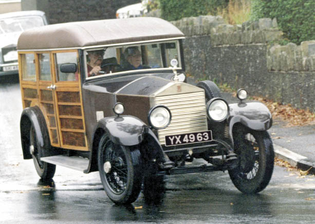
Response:
[[[139,17],[147,12],[146,10],[147,0],[143,0],[141,3],[128,5],[122,7],[116,11],[116,18],[129,18]]]

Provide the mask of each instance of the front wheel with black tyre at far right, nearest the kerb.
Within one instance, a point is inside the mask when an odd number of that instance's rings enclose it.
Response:
[[[233,137],[235,153],[239,158],[238,167],[229,170],[233,184],[245,194],[264,190],[271,179],[274,162],[269,134],[239,126]]]

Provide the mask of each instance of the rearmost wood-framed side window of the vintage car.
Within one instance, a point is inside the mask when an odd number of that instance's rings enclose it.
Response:
[[[21,54],[22,58],[22,80],[36,81],[35,57],[33,53]]]

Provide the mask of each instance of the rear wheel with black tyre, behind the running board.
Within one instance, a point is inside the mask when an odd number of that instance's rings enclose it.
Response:
[[[30,128],[30,150],[33,157],[36,172],[43,180],[49,180],[53,178],[56,170],[56,165],[41,161],[41,157],[44,155],[45,147],[41,147],[36,138],[36,130],[33,125]],[[46,147],[49,147],[48,145]],[[47,150],[47,148],[46,148]]]

